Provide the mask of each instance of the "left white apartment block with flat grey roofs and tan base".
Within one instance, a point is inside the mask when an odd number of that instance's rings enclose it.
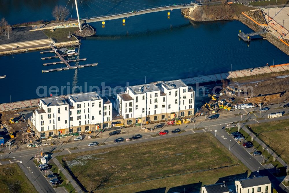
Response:
[[[96,92],[73,94],[68,98],[41,99],[29,119],[38,137],[89,132],[111,126],[112,104]]]

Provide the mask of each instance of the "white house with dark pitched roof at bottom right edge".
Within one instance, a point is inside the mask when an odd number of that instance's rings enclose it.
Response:
[[[271,193],[271,181],[268,176],[259,176],[235,181],[235,193]]]

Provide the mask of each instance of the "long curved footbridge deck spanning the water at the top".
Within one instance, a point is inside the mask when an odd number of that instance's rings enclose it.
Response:
[[[172,7],[172,8],[173,7],[186,7],[186,6],[189,6],[189,5],[191,5],[192,3],[195,3],[195,2],[196,1],[191,1],[189,3],[174,3],[174,4],[168,4],[168,5],[153,6],[153,7],[149,7],[149,8],[132,10],[131,12],[127,11],[127,12],[112,13],[112,14],[106,14],[106,15],[93,16],[93,17],[84,17],[84,18],[81,18],[81,20],[96,19],[96,18],[101,18],[101,17],[118,16],[118,15],[123,15],[123,14],[131,14],[131,13],[155,10],[155,9],[166,8],[166,7]]]

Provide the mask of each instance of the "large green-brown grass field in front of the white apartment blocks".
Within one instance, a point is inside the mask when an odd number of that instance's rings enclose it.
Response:
[[[66,165],[79,182],[94,192],[136,192],[160,187],[169,190],[182,185],[198,191],[201,185],[216,183],[221,177],[247,177],[248,172],[210,133],[66,156]],[[57,157],[60,163],[62,157]]]

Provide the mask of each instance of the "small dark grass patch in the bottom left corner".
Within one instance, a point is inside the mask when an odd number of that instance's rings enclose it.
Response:
[[[37,190],[32,185],[31,181],[27,179],[19,165],[9,164],[0,165],[0,192],[27,192],[37,193]]]

